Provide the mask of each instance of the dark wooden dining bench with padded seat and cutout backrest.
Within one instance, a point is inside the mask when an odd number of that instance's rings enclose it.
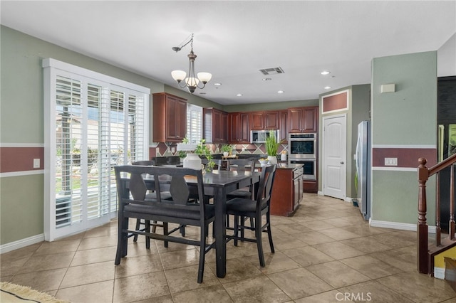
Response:
[[[115,265],[120,265],[121,258],[127,255],[128,235],[131,233],[145,235],[146,241],[150,241],[150,239],[162,240],[165,247],[167,247],[168,242],[196,245],[200,247],[197,282],[201,283],[204,274],[204,256],[215,246],[215,241],[210,244],[206,241],[209,223],[215,220],[214,205],[206,203],[198,203],[197,206],[189,205],[187,202],[190,190],[185,178],[196,179],[199,201],[203,201],[202,171],[162,166],[115,166],[114,169],[119,198],[118,245]],[[130,174],[130,178],[125,179],[125,174]],[[155,192],[157,193],[154,199],[145,198],[147,191],[144,181],[145,174],[149,174],[153,178]],[[170,184],[171,200],[161,198],[160,186],[165,182]],[[127,184],[128,188],[126,188]],[[125,194],[128,191],[133,198]],[[130,230],[129,218],[142,219],[146,222],[163,222],[163,233],[150,233],[147,228],[146,230]],[[168,230],[168,223],[199,227],[199,240],[171,235],[178,228]]]

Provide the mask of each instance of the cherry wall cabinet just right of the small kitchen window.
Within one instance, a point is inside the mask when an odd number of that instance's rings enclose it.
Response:
[[[216,108],[203,109],[203,138],[206,143],[228,142],[228,113]]]

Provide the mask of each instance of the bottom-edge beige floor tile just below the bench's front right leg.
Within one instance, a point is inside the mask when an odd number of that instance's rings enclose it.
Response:
[[[187,292],[179,292],[172,294],[172,299],[175,303],[188,302],[217,302],[231,303],[233,300],[229,297],[228,292],[222,285],[214,285],[199,289],[188,290]]]

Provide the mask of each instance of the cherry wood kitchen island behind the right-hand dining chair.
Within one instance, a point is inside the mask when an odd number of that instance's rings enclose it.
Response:
[[[271,215],[293,215],[303,197],[303,174],[302,164],[277,164],[272,186]]]

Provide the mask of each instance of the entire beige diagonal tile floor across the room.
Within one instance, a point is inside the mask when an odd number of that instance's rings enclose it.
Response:
[[[227,276],[214,275],[207,254],[197,284],[193,246],[144,238],[114,265],[116,221],[53,243],[1,255],[1,281],[28,285],[71,302],[456,302],[443,280],[416,272],[415,232],[371,228],[358,208],[305,194],[290,218],[273,217],[276,253],[264,242],[227,244]],[[187,236],[196,230],[187,228]]]

